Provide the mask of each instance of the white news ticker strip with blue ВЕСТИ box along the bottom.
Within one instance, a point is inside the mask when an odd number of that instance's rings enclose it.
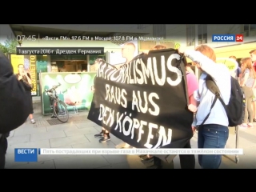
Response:
[[[14,149],[15,162],[38,162],[38,155],[43,154],[69,154],[69,155],[90,155],[90,154],[243,154],[242,149],[37,149],[19,148]]]

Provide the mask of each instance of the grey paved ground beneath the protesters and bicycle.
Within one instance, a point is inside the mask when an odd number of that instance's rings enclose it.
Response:
[[[50,125],[47,121],[50,116],[42,116],[41,104],[34,103],[37,123],[27,121],[11,131],[6,169],[146,169],[137,155],[38,155],[38,162],[14,162],[14,148],[115,148],[122,142],[111,135],[110,142],[99,143],[94,134],[98,134],[101,127],[87,120],[86,115],[87,112],[74,114],[69,122]],[[238,163],[234,155],[223,155],[220,169],[256,168],[256,129],[240,129],[239,135],[238,148],[242,148],[244,154],[239,156]],[[197,134],[191,139],[191,146],[197,148]],[[226,148],[235,148],[234,128],[230,128]],[[198,159],[196,161],[196,169],[200,169]],[[174,158],[174,169],[180,169],[178,156]]]

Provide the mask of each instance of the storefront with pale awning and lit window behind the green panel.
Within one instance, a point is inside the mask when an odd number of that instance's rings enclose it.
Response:
[[[96,58],[103,58],[106,62],[110,60],[110,53],[120,52],[122,48],[112,42],[105,41],[82,41],[82,40],[39,40],[39,41],[24,41],[22,42],[22,47],[104,47],[105,54],[102,55],[33,55],[36,60],[36,65],[34,70],[35,74],[35,86],[36,90],[32,95],[42,96],[41,86],[40,86],[40,73],[62,73],[62,72],[90,72],[90,65],[94,64]],[[14,65],[23,63],[26,64],[26,61],[22,57],[27,57],[28,55],[13,55],[16,59],[16,62],[12,62]],[[17,67],[16,67],[17,68]],[[14,71],[15,72],[15,71]],[[36,93],[35,93],[36,92]]]

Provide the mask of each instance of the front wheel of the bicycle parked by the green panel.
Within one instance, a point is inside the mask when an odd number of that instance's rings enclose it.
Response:
[[[54,101],[54,114],[60,122],[69,120],[69,112],[66,109],[66,104],[62,101]]]

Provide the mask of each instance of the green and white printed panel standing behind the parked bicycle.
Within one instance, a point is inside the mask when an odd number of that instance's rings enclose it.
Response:
[[[45,90],[61,84],[56,89],[58,97],[66,103],[70,113],[89,110],[93,99],[91,86],[94,86],[96,73],[41,73],[42,113],[52,114],[50,98]]]

